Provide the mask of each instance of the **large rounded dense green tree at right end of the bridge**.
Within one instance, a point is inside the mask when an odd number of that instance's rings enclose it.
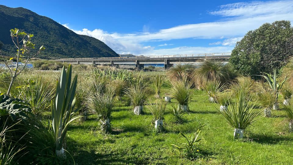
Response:
[[[293,27],[290,21],[265,23],[248,31],[232,50],[230,63],[244,75],[258,75],[284,66],[293,55]]]

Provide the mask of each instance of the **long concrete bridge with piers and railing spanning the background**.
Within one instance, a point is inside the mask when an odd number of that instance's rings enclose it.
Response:
[[[179,54],[163,56],[136,56],[136,57],[100,57],[100,58],[61,58],[56,61],[70,64],[109,64],[112,67],[119,67],[119,64],[135,64],[136,69],[141,70],[144,64],[164,64],[168,69],[173,64],[192,64],[204,59],[218,59],[227,61],[231,53],[201,53],[201,54]]]

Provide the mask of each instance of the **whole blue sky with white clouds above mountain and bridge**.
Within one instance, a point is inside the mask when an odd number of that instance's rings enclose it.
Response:
[[[249,30],[291,20],[293,1],[5,1],[105,42],[120,54],[230,52]]]

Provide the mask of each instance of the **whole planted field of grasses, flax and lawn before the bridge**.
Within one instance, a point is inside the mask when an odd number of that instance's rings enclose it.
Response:
[[[28,61],[27,44],[5,65]],[[292,66],[254,75],[217,60],[166,72],[43,60],[1,68],[0,164],[290,164]]]

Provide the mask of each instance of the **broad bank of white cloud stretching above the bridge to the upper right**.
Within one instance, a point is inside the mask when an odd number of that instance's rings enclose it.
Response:
[[[200,24],[185,24],[167,29],[161,29],[157,32],[148,32],[148,27],[143,27],[143,33],[119,34],[108,33],[102,29],[73,30],[82,35],[95,37],[106,43],[110,48],[119,54],[132,53],[154,54],[166,53],[177,54],[176,51],[198,53],[202,48],[209,53],[220,52],[222,47],[233,46],[241,39],[241,36],[249,31],[258,28],[266,22],[276,20],[290,20],[293,22],[293,1],[269,1],[269,2],[245,2],[222,5],[218,10],[209,12],[212,15],[218,15],[225,20],[206,22]],[[68,24],[63,26],[69,28]],[[69,28],[70,29],[70,28]],[[72,29],[71,29],[72,30]],[[159,49],[144,45],[147,42],[166,41],[172,39],[224,39],[222,42],[210,43],[209,45],[222,45],[215,47],[177,47],[172,49]],[[159,46],[167,46],[162,44]],[[208,49],[210,48],[210,49]],[[213,51],[212,51],[213,50]],[[231,49],[232,50],[232,49]],[[172,52],[174,51],[174,52]],[[165,53],[165,54],[166,54]],[[180,53],[180,52],[178,52]]]

